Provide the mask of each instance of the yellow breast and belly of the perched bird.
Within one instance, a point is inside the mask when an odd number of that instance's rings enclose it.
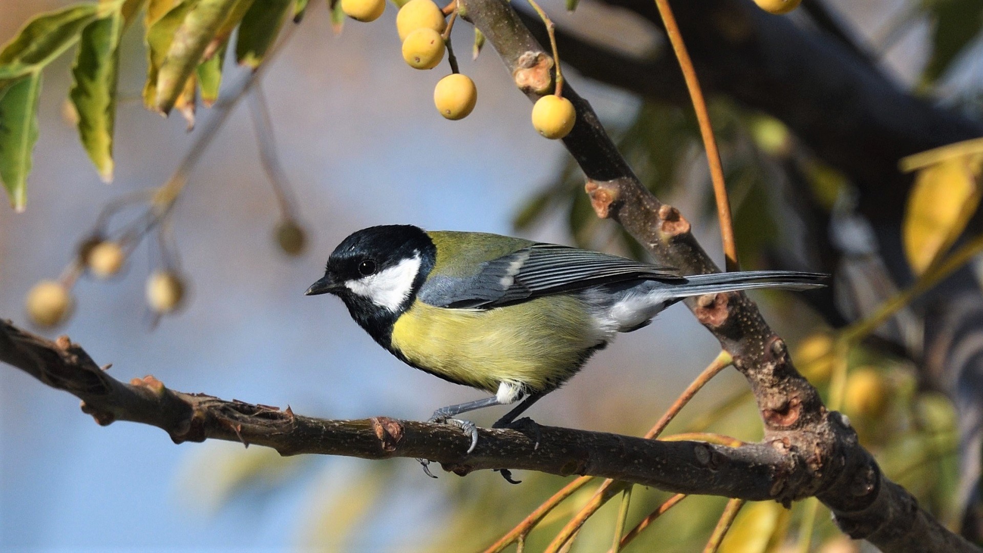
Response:
[[[393,325],[391,345],[424,369],[492,393],[501,382],[549,391],[599,345],[585,307],[572,295],[489,310],[417,300]]]

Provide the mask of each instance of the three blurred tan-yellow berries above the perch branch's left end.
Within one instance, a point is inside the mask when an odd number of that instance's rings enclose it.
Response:
[[[126,252],[119,242],[89,240],[79,249],[83,266],[93,276],[117,275],[126,263]],[[146,279],[146,303],[154,313],[164,315],[177,309],[185,295],[185,284],[173,271],[156,271]],[[55,327],[72,314],[75,301],[68,284],[59,280],[41,280],[28,292],[30,320],[39,327]]]

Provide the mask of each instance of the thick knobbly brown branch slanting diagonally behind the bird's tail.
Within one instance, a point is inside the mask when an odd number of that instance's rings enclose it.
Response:
[[[516,86],[529,99],[535,101],[552,92],[552,60],[509,4],[503,0],[458,1],[463,17],[485,34]],[[699,21],[711,28],[714,26],[707,22],[713,18],[706,13],[706,4],[680,2],[677,6],[684,7],[690,17],[699,12]],[[641,0],[637,3],[642,13],[658,17],[651,0],[645,0],[644,5]],[[747,23],[742,20],[746,16],[728,22],[738,26]],[[738,31],[747,34],[747,30]],[[683,34],[691,40],[686,30]],[[696,42],[700,42],[699,37]],[[730,46],[722,45],[724,55]],[[597,214],[619,222],[658,262],[684,275],[719,272],[690,232],[689,222],[678,210],[655,198],[632,172],[590,104],[569,86],[564,88],[564,95],[577,109],[577,122],[563,143],[587,176],[587,192]],[[688,300],[687,305],[721,341],[735,368],[750,383],[765,423],[764,444],[783,455],[801,456],[803,464],[796,463],[795,472],[804,470],[808,477],[777,478],[774,496],[814,495],[833,511],[843,531],[885,551],[978,550],[919,509],[910,494],[881,473],[857,443],[846,419],[827,411],[816,389],[795,371],[783,340],[772,332],[746,295],[708,294]]]

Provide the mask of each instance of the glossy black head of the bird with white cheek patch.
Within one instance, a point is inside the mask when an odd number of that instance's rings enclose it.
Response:
[[[307,295],[340,297],[373,338],[388,341],[392,323],[413,303],[435,259],[434,242],[420,227],[363,228],[338,244],[327,259],[324,276],[308,288]]]

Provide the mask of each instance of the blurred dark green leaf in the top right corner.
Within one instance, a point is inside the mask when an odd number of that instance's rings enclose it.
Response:
[[[946,72],[958,53],[983,29],[983,7],[979,0],[934,0],[927,8],[936,20],[932,59],[924,75],[932,82]]]

